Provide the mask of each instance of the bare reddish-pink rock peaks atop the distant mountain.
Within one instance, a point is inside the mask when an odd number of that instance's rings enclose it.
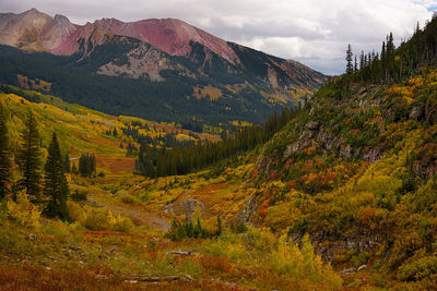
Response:
[[[55,54],[72,54],[79,50],[81,39],[88,40],[92,37],[94,44],[101,45],[105,35],[137,38],[172,56],[189,54],[190,41],[194,41],[228,62],[238,63],[238,57],[225,40],[175,19],[129,23],[103,19],[80,26],[72,24],[64,16],[56,15],[52,19],[36,9],[21,14],[0,13],[2,45],[37,51],[47,50]]]

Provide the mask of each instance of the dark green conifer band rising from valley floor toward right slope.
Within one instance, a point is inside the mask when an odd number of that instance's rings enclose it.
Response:
[[[150,178],[187,174],[241,151],[255,148],[281,130],[295,114],[296,108],[272,113],[263,123],[245,126],[217,143],[201,142],[190,146],[151,147],[142,143],[135,162],[140,174]]]

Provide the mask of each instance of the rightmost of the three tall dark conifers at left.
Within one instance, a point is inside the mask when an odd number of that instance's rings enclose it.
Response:
[[[48,148],[48,157],[44,167],[44,196],[48,199],[45,214],[48,217],[58,217],[62,220],[68,219],[67,198],[69,186],[63,173],[63,161],[59,148],[58,137],[54,133]]]

